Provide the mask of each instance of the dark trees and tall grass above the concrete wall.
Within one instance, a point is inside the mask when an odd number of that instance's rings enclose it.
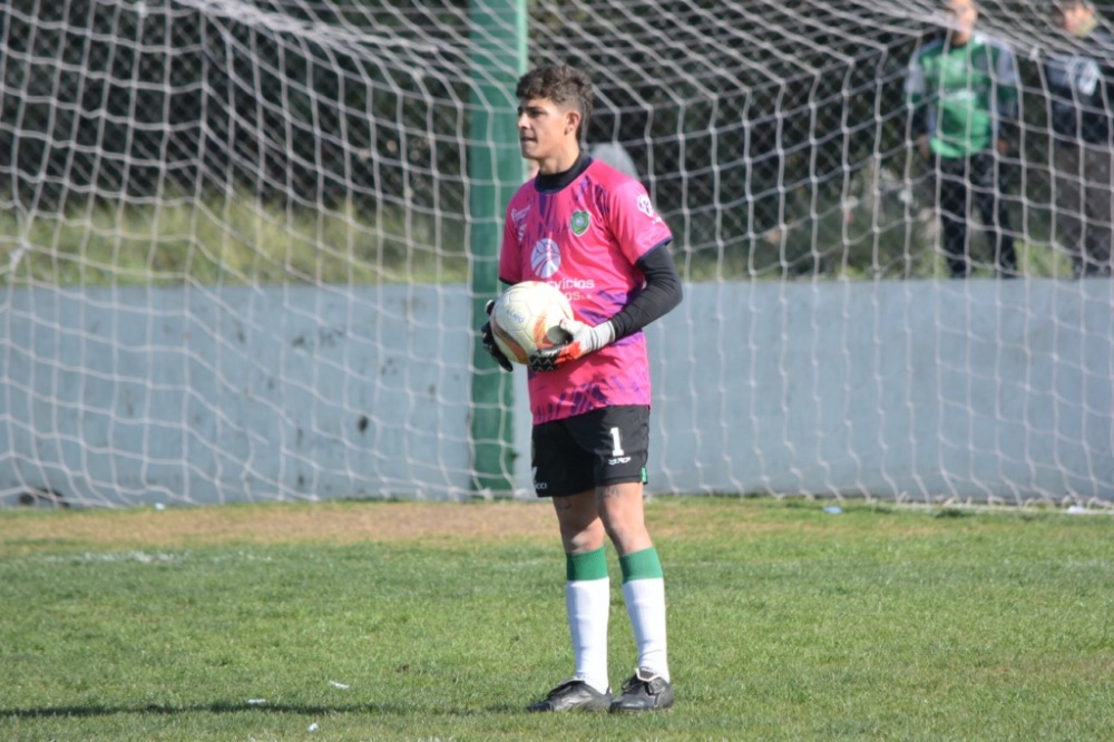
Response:
[[[531,62],[593,71],[588,138],[633,156],[685,277],[942,274],[902,94],[909,56],[938,32],[934,2],[643,4],[613,18],[528,3]],[[468,123],[485,105],[469,3],[254,7],[0,10],[0,276],[461,279],[468,158],[481,156]],[[1018,49],[1025,134],[1006,197],[1025,269],[1066,275],[1048,208],[1047,19],[996,2],[984,21]]]

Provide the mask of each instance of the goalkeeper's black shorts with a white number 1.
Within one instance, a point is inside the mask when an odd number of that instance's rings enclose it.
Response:
[[[649,408],[605,407],[534,427],[534,491],[566,497],[605,485],[646,484]]]

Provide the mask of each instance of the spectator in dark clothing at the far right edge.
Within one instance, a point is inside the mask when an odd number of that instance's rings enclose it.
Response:
[[[1053,20],[1078,40],[1076,53],[1053,53],[1045,62],[1056,143],[1056,227],[1076,276],[1108,276],[1114,37],[1100,28],[1087,0],[1053,2]]]

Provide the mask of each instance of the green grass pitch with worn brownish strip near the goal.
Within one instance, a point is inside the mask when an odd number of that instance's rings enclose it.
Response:
[[[0,511],[0,740],[1114,736],[1114,518],[824,505],[648,504],[636,716],[521,711],[571,670],[544,504]]]

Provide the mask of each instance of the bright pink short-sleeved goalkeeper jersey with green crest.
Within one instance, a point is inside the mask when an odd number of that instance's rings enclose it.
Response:
[[[577,320],[596,325],[642,290],[635,262],[672,236],[638,180],[595,160],[560,191],[539,191],[535,179],[518,189],[507,206],[499,279],[551,283]],[[556,371],[531,371],[529,391],[534,424],[648,406],[646,336],[639,331]]]

